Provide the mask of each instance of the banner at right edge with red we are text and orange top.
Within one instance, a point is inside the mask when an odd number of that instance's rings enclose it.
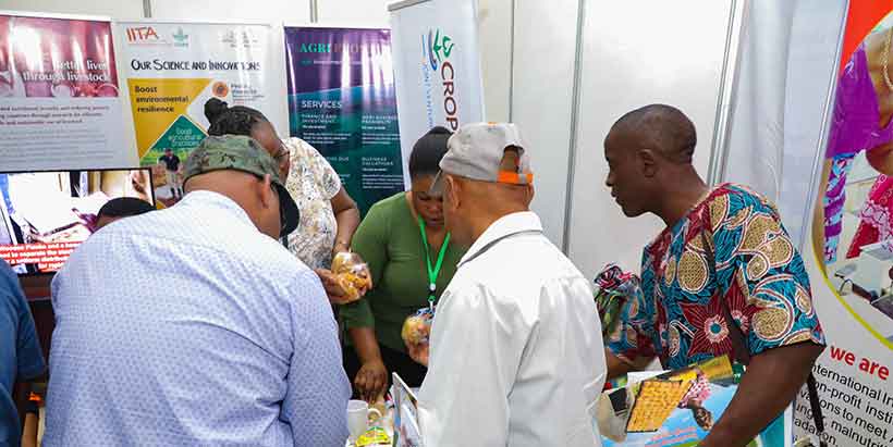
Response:
[[[893,445],[891,11],[889,0],[849,3],[820,154],[815,256],[807,258],[829,346],[814,373],[830,446]],[[802,434],[816,432],[808,402],[804,390],[795,421]]]

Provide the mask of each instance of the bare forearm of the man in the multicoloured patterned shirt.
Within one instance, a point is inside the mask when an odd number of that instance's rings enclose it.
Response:
[[[746,446],[794,400],[823,349],[800,343],[755,356],[729,408],[699,446]]]

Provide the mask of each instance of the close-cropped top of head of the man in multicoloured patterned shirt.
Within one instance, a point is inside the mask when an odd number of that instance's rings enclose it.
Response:
[[[695,124],[681,110],[650,104],[621,116],[608,138],[623,138],[660,152],[666,160],[690,164],[698,137]]]

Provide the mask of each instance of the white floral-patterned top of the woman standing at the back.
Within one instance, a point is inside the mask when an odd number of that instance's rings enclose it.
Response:
[[[328,269],[338,235],[332,198],[341,190],[341,178],[306,141],[289,138],[285,146],[292,152],[285,188],[301,210],[301,225],[289,235],[289,250],[310,269]]]

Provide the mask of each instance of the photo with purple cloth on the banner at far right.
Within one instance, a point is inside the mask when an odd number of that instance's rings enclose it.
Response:
[[[854,312],[893,342],[893,14],[842,61],[828,146],[817,250]]]

